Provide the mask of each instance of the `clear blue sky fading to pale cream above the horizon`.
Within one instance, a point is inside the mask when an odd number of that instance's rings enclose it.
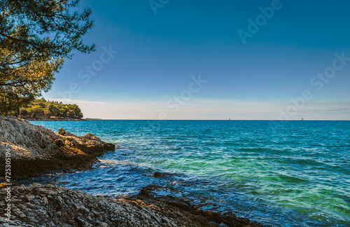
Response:
[[[81,0],[45,99],[105,119],[350,120],[349,1]],[[118,51],[118,53],[117,53]]]

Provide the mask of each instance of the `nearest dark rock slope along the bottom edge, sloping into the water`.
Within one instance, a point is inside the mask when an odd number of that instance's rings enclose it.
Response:
[[[13,226],[260,226],[235,216],[202,212],[179,201],[141,198],[109,198],[41,184],[11,188],[10,223]],[[1,198],[6,191],[0,190]],[[0,209],[5,210],[4,201]]]

